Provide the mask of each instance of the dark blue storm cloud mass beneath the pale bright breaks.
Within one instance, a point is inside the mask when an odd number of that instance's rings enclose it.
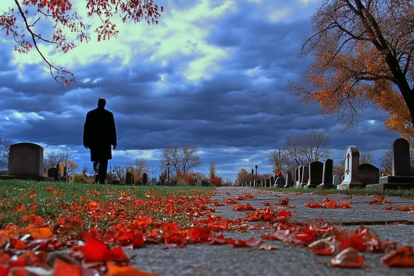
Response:
[[[39,77],[42,70],[37,65],[17,72],[10,64],[11,50],[2,48],[0,57],[6,63],[0,65],[0,130],[17,142],[70,146],[79,167],[90,166],[89,153],[82,147],[84,119],[97,98],[104,97],[115,115],[120,150],[111,164],[133,161],[134,154],[127,151],[154,150],[153,158],[158,158],[168,144],[188,143],[202,151],[201,171],[207,171],[209,160],[216,160],[224,177],[234,178],[240,168],[250,171],[254,165],[270,173],[269,151],[282,146],[287,136],[314,129],[332,135],[330,147],[337,158],[348,145],[377,155],[389,149],[398,135],[385,131],[382,122],[387,115],[375,113],[373,107],[361,116],[357,134],[355,130],[341,134],[335,115],[324,118],[317,105],[294,102],[287,80],[297,80],[311,61],[296,59],[310,30],[309,20],[268,22],[249,15],[254,7],[242,6],[216,22],[223,27],[208,42],[232,52],[219,62],[218,73],[198,83],[177,72],[180,62],[189,59],[183,57],[166,67],[139,61],[120,70],[117,61],[79,66],[78,82],[63,88],[51,77]],[[28,78],[19,79],[19,73]],[[168,76],[169,86],[159,91],[156,85],[162,74]],[[12,119],[13,112],[22,118]],[[159,166],[156,159],[150,162]]]

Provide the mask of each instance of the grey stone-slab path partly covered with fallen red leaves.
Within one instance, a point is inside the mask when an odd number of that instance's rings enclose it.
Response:
[[[361,191],[363,192],[363,191]],[[309,222],[325,219],[335,223],[340,230],[356,229],[363,224],[371,228],[371,233],[379,235],[380,240],[388,239],[398,242],[398,246],[414,246],[414,214],[399,211],[395,208],[384,210],[389,206],[412,206],[414,199],[386,197],[392,203],[369,204],[373,196],[346,194],[299,194],[294,190],[274,192],[256,190],[248,187],[219,187],[213,200],[223,202],[224,199],[235,199],[237,195],[254,194],[252,199],[238,200],[238,203],[265,208],[265,202],[277,209],[292,211],[290,221]],[[325,197],[335,199],[338,203],[352,202],[349,209],[308,208],[304,204],[320,202]],[[289,207],[278,206],[280,200],[289,198]],[[213,204],[212,204],[213,205]],[[233,205],[217,206],[214,216],[223,218],[243,218],[246,211],[234,211]],[[255,223],[258,224],[258,223]],[[253,229],[243,233],[224,231],[226,238],[248,240],[251,237],[260,239],[264,233],[272,229]],[[384,254],[363,252],[365,262],[362,269],[343,269],[330,266],[332,256],[316,255],[304,246],[285,246],[279,240],[263,240],[262,245],[274,245],[279,250],[258,250],[258,247],[233,247],[231,245],[193,244],[183,248],[163,250],[162,245],[148,245],[140,249],[125,250],[128,255],[136,254],[132,265],[147,271],[158,272],[160,276],[175,275],[214,275],[214,276],[325,276],[325,275],[414,275],[414,268],[388,268],[381,262]]]

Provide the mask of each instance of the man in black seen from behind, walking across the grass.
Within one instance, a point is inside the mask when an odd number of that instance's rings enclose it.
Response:
[[[108,160],[112,159],[111,145],[116,149],[115,120],[105,106],[106,100],[99,98],[98,107],[86,114],[83,127],[83,146],[91,150],[95,183],[100,184],[105,183]]]

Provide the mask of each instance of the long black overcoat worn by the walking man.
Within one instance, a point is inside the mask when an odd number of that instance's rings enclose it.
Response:
[[[111,111],[98,107],[86,114],[83,145],[91,150],[92,162],[112,159],[111,145],[116,146],[116,129]]]

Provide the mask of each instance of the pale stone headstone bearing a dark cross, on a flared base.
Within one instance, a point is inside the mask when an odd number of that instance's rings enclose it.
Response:
[[[349,190],[365,187],[359,182],[359,150],[356,146],[348,146],[345,151],[344,181],[337,186],[338,190]]]

